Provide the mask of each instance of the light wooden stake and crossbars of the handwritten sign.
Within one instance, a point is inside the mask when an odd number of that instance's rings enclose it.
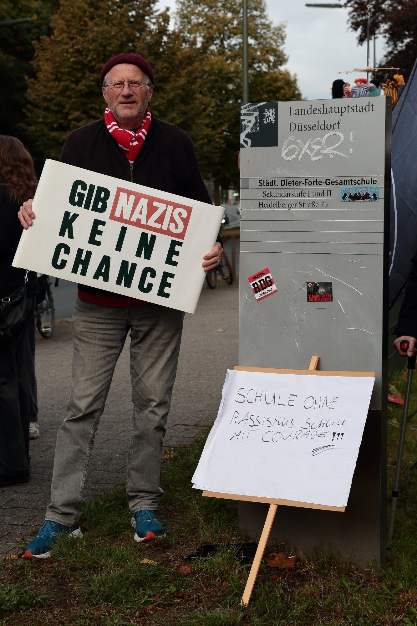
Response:
[[[319,364],[319,356],[312,356],[309,369],[269,369],[265,367],[239,367],[235,366],[234,369],[246,372],[272,372],[275,374],[307,374],[307,372],[311,372],[314,376],[375,376],[374,372],[318,372],[317,366]],[[265,499],[265,498],[256,498],[255,496],[242,496],[242,495],[234,495],[230,493],[218,493],[217,491],[203,491],[203,496],[207,496],[209,498],[224,498],[226,500],[240,500],[247,502],[264,502],[269,504],[269,511],[265,520],[264,528],[260,535],[258,547],[255,553],[254,562],[252,563],[252,567],[250,568],[249,577],[246,582],[244,594],[242,596],[242,600],[240,601],[240,605],[242,607],[247,607],[250,600],[250,595],[252,595],[252,590],[255,585],[255,580],[257,578],[260,563],[262,562],[262,557],[264,556],[265,547],[268,543],[270,531],[272,528],[272,524],[274,523],[275,513],[277,512],[278,505],[286,505],[286,506],[299,506],[301,508],[314,508],[321,509],[324,511],[340,511],[343,512],[345,510],[345,506],[324,506],[324,505],[316,505],[309,502],[296,502],[292,500],[280,500],[280,499]]]

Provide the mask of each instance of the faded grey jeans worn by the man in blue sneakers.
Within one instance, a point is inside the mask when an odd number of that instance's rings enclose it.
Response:
[[[72,526],[81,515],[94,436],[129,331],[133,434],[126,493],[132,513],[157,508],[163,493],[159,486],[162,441],[182,324],[181,311],[155,304],[114,308],[77,299],[72,317],[71,392],[56,439],[47,520]]]

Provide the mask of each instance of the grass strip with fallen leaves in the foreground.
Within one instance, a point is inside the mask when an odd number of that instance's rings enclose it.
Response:
[[[391,386],[401,395],[405,382],[399,372]],[[401,406],[388,411],[391,490]],[[133,541],[124,487],[85,501],[81,540],[61,538],[52,559],[3,563],[0,625],[417,626],[416,414],[417,377],[386,568],[359,570],[323,553],[299,555],[289,570],[263,562],[248,608],[240,598],[250,566],[229,551],[183,568],[183,555],[202,543],[244,539],[235,502],[202,498],[191,488],[201,440],[163,458],[159,512],[167,538]]]

